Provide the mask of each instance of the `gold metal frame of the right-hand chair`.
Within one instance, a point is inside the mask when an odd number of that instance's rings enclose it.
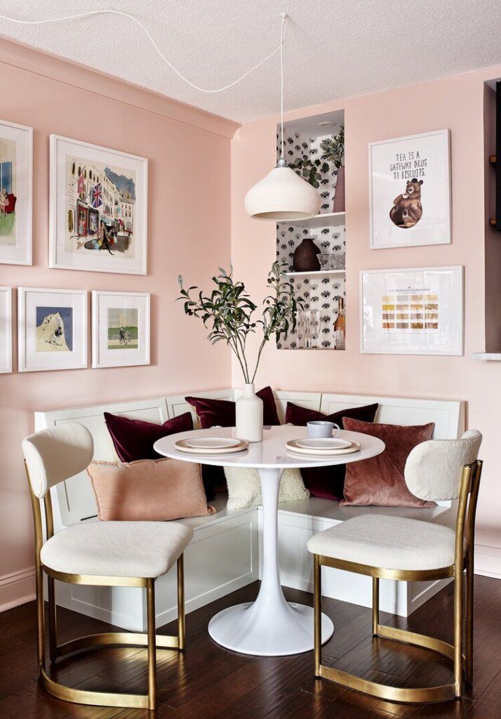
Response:
[[[320,554],[313,556],[314,583],[314,663],[315,676],[328,679],[343,687],[378,697],[390,702],[424,703],[445,702],[459,699],[464,692],[464,683],[473,682],[473,583],[474,583],[474,532],[475,513],[479,493],[482,462],[477,459],[466,464],[461,476],[459,505],[456,518],[456,541],[454,564],[443,569],[385,569],[371,567],[367,564],[346,562],[343,559],[332,559]],[[369,682],[341,669],[326,667],[321,663],[321,567],[344,569],[372,577],[372,636],[393,639],[404,644],[413,644],[424,649],[435,651],[454,662],[454,682],[436,687],[401,688],[390,684]],[[463,640],[463,583],[466,572],[466,636]],[[404,582],[426,582],[454,577],[454,644],[431,636],[405,631],[380,624],[379,594],[380,579],[401,580]],[[463,652],[464,645],[464,652]]]

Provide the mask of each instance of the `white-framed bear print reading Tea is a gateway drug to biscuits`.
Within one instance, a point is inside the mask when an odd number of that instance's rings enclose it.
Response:
[[[371,249],[451,242],[449,130],[369,143]]]

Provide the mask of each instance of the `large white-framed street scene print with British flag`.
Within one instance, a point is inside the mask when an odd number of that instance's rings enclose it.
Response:
[[[49,267],[145,275],[148,161],[50,136]]]

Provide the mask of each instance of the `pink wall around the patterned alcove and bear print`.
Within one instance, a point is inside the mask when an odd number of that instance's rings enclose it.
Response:
[[[477,567],[501,577],[499,432],[501,365],[479,362],[484,349],[484,87],[501,66],[408,88],[308,107],[289,120],[344,108],[346,124],[346,352],[267,348],[258,385],[277,389],[400,395],[467,401],[467,422],[484,434],[486,462],[477,522]],[[244,125],[232,143],[232,246],[235,273],[264,296],[275,259],[275,225],[250,219],[244,195],[275,162],[277,117]],[[453,243],[369,249],[367,143],[451,129]],[[501,238],[498,238],[501,242]],[[359,270],[464,265],[464,357],[412,357],[359,352]],[[497,267],[497,275],[501,267]],[[271,345],[271,343],[270,343]],[[498,348],[501,349],[501,346]],[[234,368],[234,383],[241,378]]]

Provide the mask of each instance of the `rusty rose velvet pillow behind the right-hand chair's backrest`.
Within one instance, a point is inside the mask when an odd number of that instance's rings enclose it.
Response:
[[[346,418],[344,429],[379,437],[385,442],[382,454],[346,465],[344,500],[341,505],[378,505],[380,507],[434,507],[434,502],[415,497],[404,479],[405,462],[410,450],[431,439],[435,423],[400,426],[372,424]]]

